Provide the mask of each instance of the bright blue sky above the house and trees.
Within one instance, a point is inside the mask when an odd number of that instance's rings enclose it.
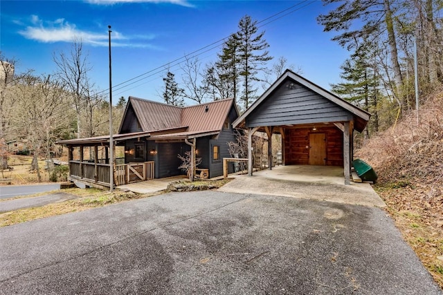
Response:
[[[282,12],[287,8],[291,9]],[[33,69],[35,75],[51,74],[56,68],[53,55],[69,53],[73,38],[81,37],[93,68],[91,82],[105,91],[109,87],[107,26],[111,25],[113,86],[142,75],[129,82],[134,84],[114,88],[114,102],[129,95],[161,102],[165,65],[170,63],[180,84],[180,67],[172,61],[228,37],[244,15],[260,22],[282,12],[259,24],[259,31],[266,31],[273,61],[283,56],[301,68],[303,77],[329,89],[329,84],[340,82],[340,66],[348,56],[331,41],[334,34],[323,32],[316,23],[318,15],[332,8],[321,1],[302,0],[2,0],[0,48],[7,58],[17,59],[16,73]],[[207,52],[199,51],[202,66],[215,61],[220,48],[221,42],[206,48]],[[263,90],[258,88],[260,95]]]

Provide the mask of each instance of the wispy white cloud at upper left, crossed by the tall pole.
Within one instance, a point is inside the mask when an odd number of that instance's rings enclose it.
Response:
[[[55,21],[43,21],[37,15],[30,17],[31,26],[26,26],[24,30],[20,30],[19,34],[26,39],[31,39],[43,43],[69,42],[74,39],[81,39],[83,44],[91,44],[93,46],[108,46],[109,35],[107,30],[104,32],[88,32],[79,30],[75,24],[71,24],[64,19],[56,19]],[[113,30],[111,39],[112,46],[138,47],[138,48],[155,48],[151,44],[140,42],[141,40],[152,40],[155,35],[137,35],[127,37]]]

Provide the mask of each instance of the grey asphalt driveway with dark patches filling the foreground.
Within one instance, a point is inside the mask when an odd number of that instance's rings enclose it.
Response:
[[[0,294],[442,294],[381,209],[168,193],[0,229]]]

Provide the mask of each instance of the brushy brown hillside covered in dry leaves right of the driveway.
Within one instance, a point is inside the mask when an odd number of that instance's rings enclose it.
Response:
[[[443,288],[443,88],[426,97],[418,125],[408,113],[356,156],[377,171],[386,210]]]

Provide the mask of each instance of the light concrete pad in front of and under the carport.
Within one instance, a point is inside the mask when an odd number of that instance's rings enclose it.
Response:
[[[233,175],[219,191],[256,193],[386,207],[368,183],[344,184],[343,169],[333,166],[277,166],[248,175]]]

